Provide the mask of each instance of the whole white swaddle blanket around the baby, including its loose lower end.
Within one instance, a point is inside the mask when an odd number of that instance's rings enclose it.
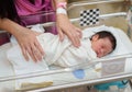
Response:
[[[38,30],[38,27],[40,25],[35,25],[32,30]],[[38,35],[37,39],[45,53],[43,61],[40,62],[34,62],[31,58],[30,61],[26,61],[19,45],[12,46],[8,50],[7,57],[13,65],[15,74],[44,71],[48,69],[48,65],[53,64],[61,67],[82,64],[97,58],[96,53],[91,49],[89,39],[94,33],[88,33],[89,34],[86,35],[86,33],[82,32],[81,46],[79,48],[74,47],[67,37],[61,42],[58,35],[53,35],[51,33]]]

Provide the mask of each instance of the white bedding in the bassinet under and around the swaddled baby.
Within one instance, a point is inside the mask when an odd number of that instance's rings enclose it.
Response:
[[[62,69],[59,67],[55,67],[52,66],[50,68],[52,68],[52,71],[40,71],[40,72],[34,72],[34,73],[26,73],[24,76],[19,74],[15,76],[14,70],[12,65],[10,64],[10,61],[7,59],[7,50],[10,48],[11,43],[8,43],[6,45],[2,45],[0,47],[0,78],[1,78],[1,82],[0,82],[0,90],[33,90],[34,88],[38,89],[38,88],[43,88],[46,87],[45,90],[50,90],[50,89],[58,89],[58,87],[64,88],[63,85],[67,85],[69,87],[70,83],[73,84],[77,84],[77,83],[92,83],[95,79],[100,79],[101,78],[106,78],[106,77],[113,77],[116,74],[120,74],[123,76],[123,73],[131,73],[132,68],[131,68],[131,60],[132,60],[132,56],[131,56],[131,51],[132,51],[132,44],[131,41],[128,38],[128,36],[120,31],[119,28],[116,27],[111,27],[111,26],[97,26],[97,27],[89,27],[86,28],[87,31],[94,31],[94,32],[98,32],[98,31],[102,31],[102,30],[107,30],[107,31],[111,31],[114,33],[114,36],[117,36],[117,41],[118,41],[118,48],[113,51],[113,54],[111,54],[110,56],[103,57],[98,61],[98,65],[95,66],[95,64],[84,64],[84,65],[79,65],[79,66],[75,66],[72,68],[65,68]],[[118,33],[118,34],[117,34]],[[88,34],[88,33],[86,33]],[[117,70],[117,72],[108,72],[107,69],[109,69],[108,65],[112,65],[110,62],[114,62],[117,65],[117,67],[119,67],[120,70]],[[108,65],[107,65],[108,64]],[[122,64],[124,66],[122,66]],[[105,67],[108,66],[107,67]],[[87,67],[88,66],[88,67]],[[34,67],[35,69],[35,67]],[[78,70],[80,69],[80,70]],[[114,68],[113,68],[114,69]],[[78,70],[78,71],[76,71]],[[107,73],[106,71],[107,70]],[[13,77],[11,77],[13,76]],[[16,80],[13,80],[16,79]],[[29,88],[21,88],[21,84],[23,83],[38,83],[38,84],[43,84],[42,87],[29,87]],[[44,90],[44,89],[43,89]],[[3,91],[4,92],[4,91]]]

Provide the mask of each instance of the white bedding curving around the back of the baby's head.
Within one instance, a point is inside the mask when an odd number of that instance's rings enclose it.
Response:
[[[100,31],[108,31],[113,34],[113,36],[117,39],[117,47],[112,51],[112,54],[107,55],[107,57],[132,54],[132,42],[130,41],[128,35],[124,33],[124,31],[118,27],[100,25],[96,27],[88,27],[88,28],[85,28],[84,31],[87,31],[87,32],[91,31],[94,33],[97,33]]]

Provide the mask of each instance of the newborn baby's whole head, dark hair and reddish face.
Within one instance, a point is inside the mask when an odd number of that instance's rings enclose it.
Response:
[[[96,51],[97,57],[103,57],[112,53],[116,46],[116,37],[110,32],[97,32],[91,37],[91,48]]]

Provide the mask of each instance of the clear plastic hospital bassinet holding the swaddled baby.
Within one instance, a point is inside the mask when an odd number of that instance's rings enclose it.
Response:
[[[123,0],[92,0],[78,1],[68,4],[68,15],[70,21],[81,30],[86,27],[118,27],[128,34],[128,13],[127,3]],[[99,9],[99,21],[96,24],[81,26],[80,11]],[[45,14],[43,14],[45,15]],[[41,23],[48,32],[54,22]],[[33,25],[29,25],[31,27]],[[95,85],[105,82],[119,81],[132,78],[132,43],[128,36],[121,33],[121,43],[124,43],[124,54],[111,55],[100,59],[90,61],[89,64],[80,64],[69,68],[61,68],[51,66],[51,70],[15,76],[11,64],[6,59],[6,51],[10,48],[10,43],[0,47],[0,91],[26,91],[41,92],[53,91],[80,85]],[[119,49],[118,53],[121,53]],[[76,70],[79,70],[76,72]],[[79,77],[75,76],[79,73]],[[37,81],[36,83],[24,82],[20,85],[16,81]],[[18,85],[16,85],[18,84]],[[21,88],[20,88],[21,87]],[[58,92],[58,91],[57,91]]]

